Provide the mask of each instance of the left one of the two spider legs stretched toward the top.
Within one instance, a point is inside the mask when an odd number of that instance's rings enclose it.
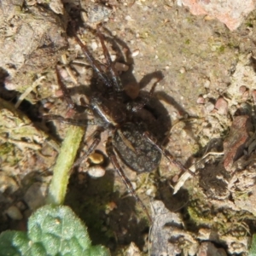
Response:
[[[107,85],[108,87],[113,87],[113,84],[111,83],[111,81],[108,79],[108,76],[102,71],[102,67],[101,65],[99,65],[98,61],[96,61],[96,59],[94,58],[93,55],[90,54],[89,49],[87,48],[87,46],[85,44],[82,43],[82,41],[80,40],[80,38],[74,34],[74,38],[76,39],[76,41],[78,42],[78,44],[80,45],[87,61],[89,61],[90,66],[92,67],[92,69],[94,70],[94,72],[98,75],[98,77],[100,79],[102,79],[102,82]]]

